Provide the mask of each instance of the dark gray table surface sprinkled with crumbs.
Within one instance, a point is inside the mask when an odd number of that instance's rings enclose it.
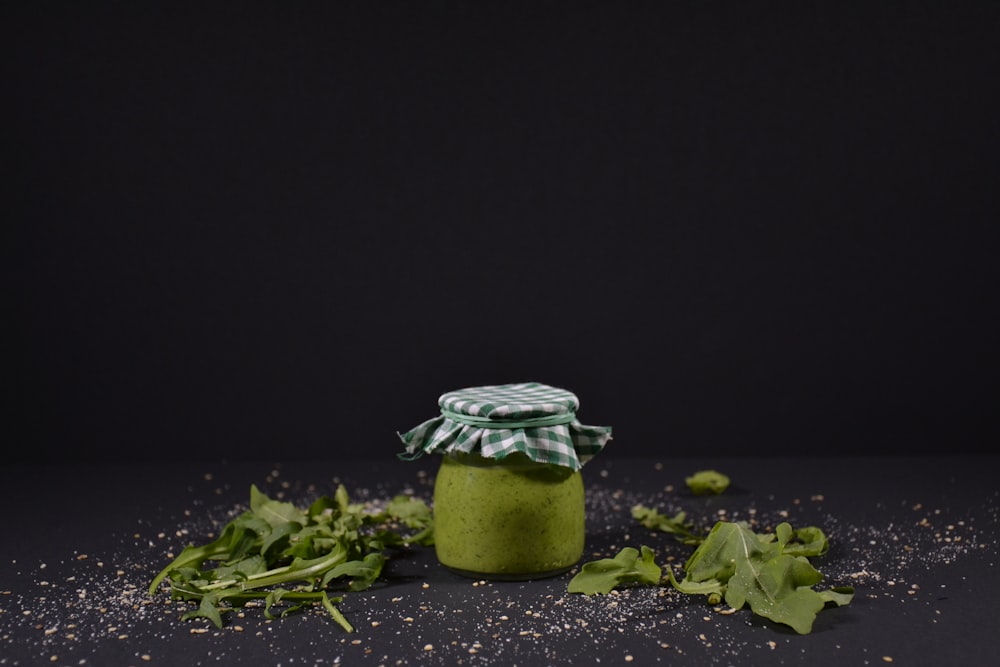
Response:
[[[1000,457],[596,458],[584,468],[584,561],[624,546],[683,562],[686,547],[635,523],[637,503],[773,526],[816,525],[820,587],[854,601],[797,635],[748,610],[654,587],[566,592],[571,574],[484,582],[433,550],[393,553],[373,588],[348,593],[348,634],[322,610],[221,630],[181,621],[150,578],[188,543],[246,508],[251,484],[306,504],[343,482],[353,500],[430,499],[437,461],[194,462],[4,466],[0,665],[944,665],[996,664]],[[695,497],[684,478],[713,468],[733,485]]]

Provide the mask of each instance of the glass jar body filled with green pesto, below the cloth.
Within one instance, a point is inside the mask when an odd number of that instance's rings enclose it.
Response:
[[[526,580],[569,570],[583,556],[583,477],[523,454],[445,454],[434,483],[434,544],[450,570]]]

